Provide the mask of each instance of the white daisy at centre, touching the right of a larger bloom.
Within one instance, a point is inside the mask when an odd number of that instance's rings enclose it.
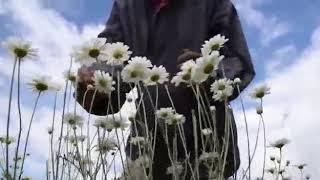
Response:
[[[164,82],[168,81],[169,73],[167,72],[166,68],[163,66],[153,66],[150,70],[149,77],[144,81],[147,86],[152,86],[156,84],[163,84]]]

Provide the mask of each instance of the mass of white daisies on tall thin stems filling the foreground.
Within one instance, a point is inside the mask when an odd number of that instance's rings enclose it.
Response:
[[[37,51],[29,42],[9,39],[6,47],[14,56],[14,65],[10,83],[6,134],[0,139],[3,147],[1,155],[3,154],[5,159],[4,162],[0,162],[1,176],[10,180],[28,178],[24,176],[24,165],[28,156],[29,135],[32,131],[34,115],[41,95],[51,90],[55,98],[52,122],[48,125],[50,149],[45,163],[47,179],[153,179],[153,162],[157,156],[159,139],[164,141],[163,149],[169,158],[166,173],[171,175],[172,179],[198,180],[203,169],[206,169],[208,179],[225,179],[228,161],[230,158],[236,161],[236,157],[230,157],[229,152],[234,151],[233,148],[237,143],[233,134],[235,125],[233,125],[234,117],[229,98],[235,93],[240,94],[242,83],[239,78],[228,79],[225,76],[223,63],[221,63],[224,56],[220,49],[227,41],[228,39],[221,35],[206,41],[201,49],[201,55],[196,59],[183,62],[179,72],[172,77],[164,66],[153,65],[147,57],[131,57],[132,52],[123,43],[106,43],[105,39],[92,39],[75,50],[65,73],[61,117],[56,116],[57,92],[61,88],[48,77],[36,77],[28,83],[36,93],[36,100],[32,116],[28,121],[26,137],[22,137],[22,121],[28,119],[21,116],[20,66],[25,59],[36,57]],[[72,72],[73,63],[90,67],[91,69],[81,69],[90,74],[90,79],[84,80]],[[17,82],[15,82],[16,74]],[[20,128],[18,135],[13,137],[10,123],[16,120],[11,118],[15,84],[18,90]],[[85,87],[80,87],[83,85]],[[175,108],[177,100],[172,95],[174,88],[190,90],[196,102],[196,107],[189,109],[191,119],[187,119]],[[74,101],[71,100],[73,89]],[[126,99],[135,105],[136,114],[128,115],[123,111],[118,112],[122,106],[120,102],[124,99],[123,92],[128,93]],[[159,104],[160,93],[162,93],[161,98],[163,94],[168,98],[170,103],[167,106]],[[136,94],[137,97],[133,97],[132,94]],[[248,166],[243,173],[235,173],[233,179],[252,179],[251,162],[256,153],[261,124],[264,134],[261,179],[266,179],[265,177],[269,177],[269,174],[273,179],[288,179],[287,170],[290,162],[286,161],[286,164],[283,164],[282,158],[282,149],[288,140],[282,139],[271,144],[273,148],[279,150],[279,160],[271,157],[274,167],[266,168],[267,144],[263,98],[267,94],[270,94],[270,88],[267,86],[258,87],[250,94],[251,97],[259,100],[257,114],[260,117],[252,153],[245,107],[240,96],[246,123]],[[94,106],[101,101],[105,104],[102,107],[103,112],[95,112]],[[88,117],[80,113],[77,103],[89,112]],[[223,107],[225,111],[223,119],[217,117],[216,108],[218,107],[213,106],[215,103],[219,104],[219,108]],[[91,114],[102,116],[93,119]],[[217,129],[219,122],[223,122],[223,135]],[[192,126],[191,132],[194,138],[191,145],[188,142],[190,134],[186,133],[186,127],[190,127],[188,124]],[[24,142],[22,148],[21,142]],[[194,151],[189,150],[190,146]],[[235,156],[234,153],[232,156]],[[310,179],[310,176],[304,177],[305,164],[295,167],[299,170],[301,179]],[[237,169],[237,167],[230,168]]]

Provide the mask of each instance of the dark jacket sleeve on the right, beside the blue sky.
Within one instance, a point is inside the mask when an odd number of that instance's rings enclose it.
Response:
[[[242,32],[237,10],[230,0],[213,1],[210,19],[210,35],[224,35],[229,41],[221,49],[225,58],[221,61],[218,77],[240,78],[240,91],[244,90],[255,76],[250,53]],[[238,97],[238,91],[230,97],[230,101]]]

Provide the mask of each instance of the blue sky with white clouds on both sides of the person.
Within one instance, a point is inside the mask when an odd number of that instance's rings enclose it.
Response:
[[[320,106],[317,104],[320,96],[316,93],[320,90],[320,83],[317,83],[317,77],[320,77],[320,2],[239,0],[234,1],[234,4],[238,9],[257,72],[252,86],[266,83],[272,88],[272,95],[266,100],[265,108],[267,129],[270,132],[268,137],[291,138],[293,142],[288,156],[297,163],[306,161],[310,164],[310,173],[319,177],[320,168],[317,162],[320,161],[320,157],[317,150],[320,150],[320,144],[309,143],[309,138],[320,136],[315,128],[320,125],[316,118],[320,116]],[[38,73],[61,78],[61,73],[67,68],[68,55],[72,47],[95,37],[103,29],[111,5],[111,0],[0,0],[0,39],[2,41],[8,36],[20,35],[34,41],[39,47],[41,61],[25,63],[25,81]],[[2,104],[7,102],[11,63],[5,50],[1,49]],[[28,115],[34,96],[28,90],[24,95],[23,105]],[[247,100],[246,95],[244,98],[248,104],[253,104]],[[50,122],[48,118],[43,120],[41,116],[51,112],[50,103],[52,96],[46,95],[41,101],[42,108],[37,115],[35,127],[44,128]],[[235,102],[237,103],[238,101]],[[257,125],[254,111],[250,106],[248,112],[252,136]],[[4,133],[2,117],[5,117],[5,112],[0,111],[0,134]],[[288,114],[288,118],[284,123],[285,114]],[[238,115],[239,134],[242,137],[243,123],[241,114]],[[45,133],[45,129],[42,133]],[[46,143],[46,138],[37,136],[34,134],[32,138],[34,144]],[[240,140],[239,144],[242,152],[245,152],[243,141]],[[30,164],[43,169],[41,163],[46,157],[46,151],[39,150],[40,147],[31,146],[32,150],[39,152],[39,156],[34,157]],[[243,162],[245,163],[245,160]],[[28,168],[30,175],[37,174],[35,172],[33,168]]]

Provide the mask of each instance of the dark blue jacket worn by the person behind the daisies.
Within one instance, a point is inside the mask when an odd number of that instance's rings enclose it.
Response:
[[[164,65],[170,74],[178,71],[177,57],[181,55],[182,49],[190,49],[200,52],[201,45],[205,40],[216,34],[225,35],[229,41],[222,49],[225,59],[222,61],[227,78],[239,77],[242,80],[241,91],[253,79],[255,72],[251,62],[245,37],[239,22],[237,11],[229,0],[171,0],[168,7],[163,8],[158,14],[153,11],[151,0],[115,0],[111,15],[106,27],[99,37],[106,37],[109,42],[124,42],[133,51],[135,56],[147,56],[154,65]],[[102,65],[95,65],[96,69],[104,69]],[[221,74],[219,74],[222,76]],[[112,96],[112,105],[117,109],[118,104],[125,101],[125,93],[128,86],[121,88],[121,102],[118,102],[116,93]],[[79,85],[78,100],[82,102],[82,95],[86,87]],[[203,86],[204,91],[209,91],[209,86]],[[149,91],[155,95],[153,88]],[[178,113],[186,116],[184,124],[188,150],[193,154],[193,134],[191,110],[196,109],[195,100],[190,88],[171,88],[170,93],[175,102]],[[92,93],[91,93],[92,94]],[[90,93],[87,95],[87,99]],[[230,100],[235,99],[235,92]],[[144,96],[147,97],[147,96]],[[105,115],[107,100],[106,96],[98,94],[92,109],[93,114]],[[147,118],[154,119],[152,104],[145,99]],[[86,103],[85,109],[89,109],[91,100]],[[159,107],[171,106],[164,88],[159,91]],[[223,104],[210,102],[217,108],[217,129],[222,139],[224,136]],[[138,111],[138,117],[139,118]],[[152,121],[152,120],[150,120]],[[153,127],[153,122],[148,122]],[[233,136],[230,141],[235,142],[227,157],[226,176],[232,175],[239,167],[240,158],[237,146],[237,132],[234,120]],[[157,138],[156,158],[154,161],[154,179],[168,179],[165,170],[169,164],[167,150],[161,136]],[[133,148],[134,149],[134,148]],[[127,149],[127,153],[129,148]],[[201,152],[201,150],[199,150]],[[134,153],[133,153],[134,154]]]

